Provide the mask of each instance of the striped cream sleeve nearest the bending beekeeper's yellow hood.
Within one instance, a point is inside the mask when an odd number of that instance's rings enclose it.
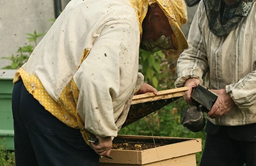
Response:
[[[202,6],[202,2],[200,3]],[[199,79],[202,83],[202,77],[208,69],[207,54],[205,50],[204,36],[202,34],[202,8],[198,6],[195,17],[191,23],[188,36],[189,48],[184,50],[177,61],[178,78],[175,81],[175,87],[184,86],[186,80],[190,78]]]

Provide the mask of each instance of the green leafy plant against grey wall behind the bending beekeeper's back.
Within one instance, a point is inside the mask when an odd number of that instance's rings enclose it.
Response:
[[[33,52],[35,46],[37,45],[38,38],[44,36],[44,33],[37,34],[36,31],[34,31],[33,34],[27,33],[27,35],[29,43],[33,43],[33,45],[29,44],[23,47],[19,47],[19,49],[16,52],[17,54],[12,54],[11,57],[2,57],[2,59],[9,59],[10,61],[12,61],[12,64],[4,66],[3,69],[18,69],[20,68],[20,66],[22,66],[22,64],[26,63],[26,61],[28,61],[30,54]]]

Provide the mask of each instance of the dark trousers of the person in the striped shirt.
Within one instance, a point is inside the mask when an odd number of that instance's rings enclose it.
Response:
[[[207,121],[200,166],[256,166],[256,124],[216,126]]]

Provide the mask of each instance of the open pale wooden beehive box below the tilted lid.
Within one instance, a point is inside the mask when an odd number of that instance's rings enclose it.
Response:
[[[115,144],[132,144],[148,149],[112,149],[113,159],[100,158],[100,166],[196,166],[195,154],[202,151],[201,139],[177,137],[148,137],[138,135],[118,135]]]

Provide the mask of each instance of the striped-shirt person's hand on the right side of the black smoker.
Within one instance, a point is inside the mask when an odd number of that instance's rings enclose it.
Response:
[[[216,118],[228,114],[232,107],[234,107],[234,101],[230,95],[226,93],[225,89],[212,89],[212,91],[218,94],[218,98],[211,110],[208,112],[207,116]]]

